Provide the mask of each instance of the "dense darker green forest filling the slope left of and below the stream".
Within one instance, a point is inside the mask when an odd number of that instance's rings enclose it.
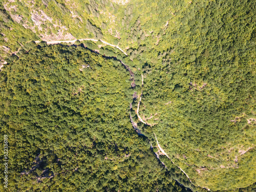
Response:
[[[186,191],[134,132],[121,63],[79,46],[40,45],[0,73],[9,189]]]

